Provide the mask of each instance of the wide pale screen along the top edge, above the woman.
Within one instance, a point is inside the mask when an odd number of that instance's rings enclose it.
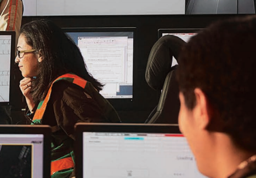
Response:
[[[185,0],[22,0],[24,16],[185,14]]]

